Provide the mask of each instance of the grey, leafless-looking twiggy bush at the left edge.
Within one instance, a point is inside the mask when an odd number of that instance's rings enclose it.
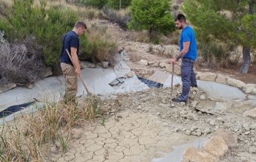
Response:
[[[34,51],[23,44],[10,44],[0,32],[0,84],[33,84],[44,65]]]

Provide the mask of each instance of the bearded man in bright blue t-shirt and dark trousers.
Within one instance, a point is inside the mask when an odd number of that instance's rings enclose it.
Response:
[[[193,70],[194,61],[197,59],[197,43],[194,31],[186,24],[186,17],[183,14],[177,15],[175,18],[175,26],[177,29],[182,30],[180,34],[180,53],[175,59],[170,59],[169,64],[182,59],[180,70],[183,87],[182,94],[177,98],[172,98],[172,101],[187,103],[190,86],[197,87],[197,80]]]

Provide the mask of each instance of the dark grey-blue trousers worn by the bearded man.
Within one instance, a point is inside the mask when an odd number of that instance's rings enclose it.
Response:
[[[180,100],[188,100],[189,98],[189,89],[191,86],[197,85],[196,75],[193,70],[193,59],[183,58],[180,70],[181,70],[181,81],[182,81],[182,94],[180,95]]]

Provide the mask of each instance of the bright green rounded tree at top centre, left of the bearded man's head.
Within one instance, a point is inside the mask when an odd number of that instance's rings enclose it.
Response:
[[[149,33],[156,31],[163,34],[175,31],[175,23],[168,11],[169,0],[137,0],[131,1],[130,29],[148,30]]]

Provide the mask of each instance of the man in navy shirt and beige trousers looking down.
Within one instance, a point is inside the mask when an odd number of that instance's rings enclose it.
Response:
[[[65,95],[64,98],[67,102],[75,101],[77,92],[77,76],[80,76],[81,68],[78,62],[79,53],[79,39],[78,36],[83,34],[87,29],[87,26],[82,21],[77,21],[73,30],[67,32],[62,40],[62,51],[60,53],[60,66],[62,67],[62,72],[65,76]],[[74,67],[71,62],[67,52],[67,49],[71,55]]]

